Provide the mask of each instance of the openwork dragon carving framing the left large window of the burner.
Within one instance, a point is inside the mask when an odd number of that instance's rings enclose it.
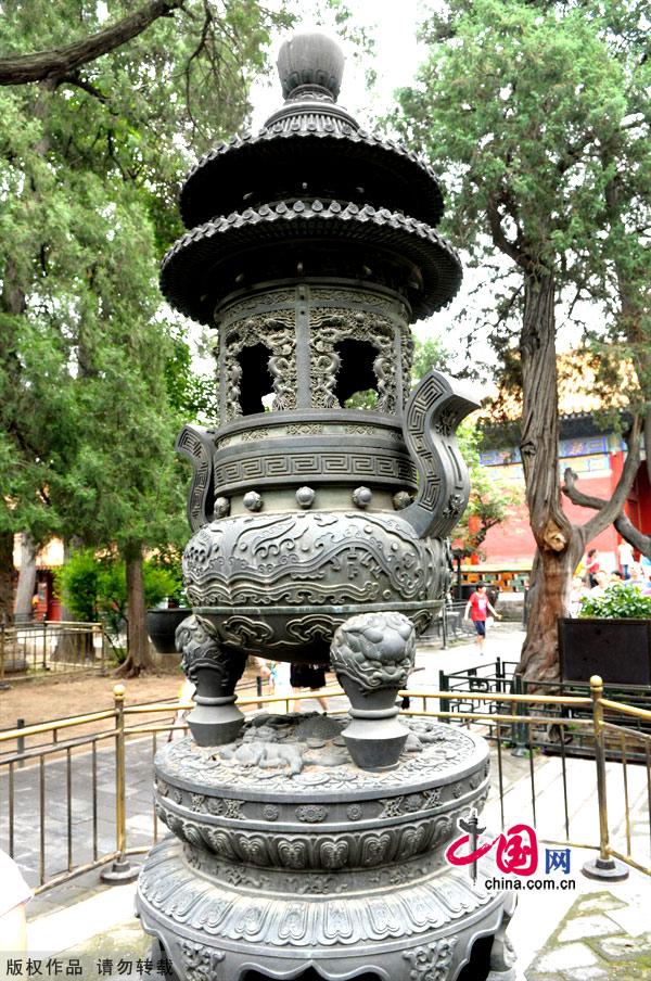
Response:
[[[260,314],[235,320],[225,328],[226,420],[242,415],[240,405],[242,367],[238,360],[244,347],[264,344],[269,349],[267,368],[272,379],[273,411],[296,408],[296,334],[293,310],[273,316]]]

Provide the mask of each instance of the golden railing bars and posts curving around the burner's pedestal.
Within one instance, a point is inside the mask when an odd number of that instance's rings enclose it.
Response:
[[[10,854],[20,853],[22,842],[16,842],[15,835],[15,815],[16,815],[16,769],[21,773],[30,773],[31,782],[38,787],[36,797],[38,798],[38,806],[35,807],[36,814],[35,826],[38,828],[38,884],[36,892],[58,884],[67,880],[72,876],[88,871],[93,868],[112,863],[111,869],[104,872],[110,881],[124,881],[137,874],[137,868],[129,866],[129,856],[142,854],[151,848],[157,840],[158,825],[155,808],[152,810],[152,831],[146,844],[130,845],[127,839],[127,787],[128,787],[128,761],[127,761],[127,742],[137,740],[140,747],[139,753],[142,755],[146,751],[144,740],[151,737],[151,759],[155,756],[157,742],[161,736],[165,735],[171,738],[176,731],[187,732],[181,713],[193,706],[192,702],[156,702],[145,705],[126,705],[125,704],[125,686],[116,685],[114,691],[114,706],[102,712],[88,713],[86,715],[75,716],[72,718],[63,718],[54,722],[41,723],[23,728],[8,729],[0,732],[0,797],[7,800],[5,820],[0,824],[7,824],[7,841]],[[425,716],[442,719],[444,722],[461,723],[468,727],[471,725],[480,725],[485,730],[488,729],[487,738],[495,746],[497,755],[497,777],[498,793],[500,806],[500,819],[502,828],[506,826],[505,812],[505,766],[503,754],[509,746],[513,744],[511,732],[514,726],[521,729],[524,727],[528,732],[524,746],[526,755],[528,755],[528,774],[531,783],[531,805],[533,814],[533,824],[536,825],[536,805],[538,803],[539,793],[536,789],[535,777],[535,749],[536,742],[533,737],[534,729],[540,726],[548,726],[553,722],[554,726],[559,726],[561,735],[567,726],[573,728],[580,727],[593,737],[595,742],[595,785],[598,798],[599,810],[599,840],[593,842],[573,841],[570,827],[569,797],[567,797],[567,770],[566,757],[564,752],[564,739],[561,738],[559,755],[562,764],[562,783],[563,783],[563,808],[564,808],[564,839],[554,839],[544,837],[541,840],[548,844],[563,844],[574,848],[591,849],[598,853],[593,865],[599,869],[610,870],[616,862],[624,863],[625,866],[636,868],[647,875],[651,875],[651,863],[640,861],[631,854],[633,835],[630,827],[630,801],[629,801],[629,767],[641,765],[646,772],[646,786],[648,799],[651,802],[651,735],[649,732],[636,731],[627,726],[613,722],[613,717],[622,716],[624,719],[637,719],[640,723],[651,723],[651,712],[643,709],[627,705],[603,698],[603,686],[601,678],[593,677],[590,679],[589,697],[566,697],[566,696],[545,696],[545,695],[522,695],[507,692],[480,692],[480,691],[438,691],[432,689],[410,689],[409,691],[399,692],[400,696],[408,696],[410,700],[420,700],[422,708],[409,709],[404,712],[410,716]],[[308,699],[317,699],[324,696],[326,698],[343,698],[344,692],[341,688],[324,688],[320,691],[310,691],[301,695],[301,701]],[[487,711],[472,712],[451,712],[448,709],[441,708],[442,703],[446,704],[450,701],[462,701],[463,699],[472,699],[474,702],[494,703],[488,705]],[[246,709],[260,709],[266,705],[277,706],[284,705],[285,711],[290,710],[290,704],[296,700],[296,696],[251,696],[240,697],[238,704]],[[437,703],[437,708],[432,709],[433,703]],[[498,711],[488,711],[495,708],[497,703]],[[503,711],[505,708],[511,706],[512,711]],[[522,715],[521,711],[527,709],[529,714]],[[345,704],[336,708],[334,711],[345,711]],[[531,714],[533,711],[533,714]],[[545,712],[547,711],[547,714]],[[563,716],[554,714],[550,716],[549,712],[572,712],[584,711],[587,717]],[[609,713],[609,719],[604,718],[604,712]],[[157,716],[152,718],[152,716]],[[106,727],[104,724],[110,724]],[[81,728],[92,727],[97,731],[78,734]],[[99,727],[99,728],[98,728]],[[650,730],[651,731],[651,730]],[[27,749],[17,749],[24,747],[26,740],[48,735],[51,741],[48,744],[37,744]],[[486,735],[486,732],[484,732]],[[21,740],[18,742],[18,740]],[[613,741],[614,740],[614,741]],[[521,740],[522,741],[522,740]],[[629,759],[629,748],[631,742],[636,742],[642,747],[640,764],[640,753],[637,753],[636,762]],[[613,766],[611,764],[611,773],[608,773],[607,755],[613,756],[613,746],[621,747],[621,766],[618,767],[622,788],[623,788],[623,812],[625,821],[625,849],[614,849],[610,842],[609,829],[609,793],[612,802],[615,791],[612,788],[614,778]],[[16,749],[13,749],[13,746]],[[112,749],[110,762],[113,764],[115,789],[113,793],[113,813],[111,820],[115,827],[115,848],[113,850],[103,851],[99,848],[98,828],[101,820],[99,797],[98,797],[98,756],[105,752],[105,747]],[[528,747],[528,749],[527,749]],[[607,753],[608,749],[608,753]],[[89,861],[75,861],[74,835],[73,835],[73,764],[76,759],[85,757],[90,754],[90,801],[91,801],[91,821],[90,828],[90,845],[91,854]],[[51,875],[48,871],[46,855],[46,814],[48,813],[48,793],[46,789],[46,775],[48,762],[63,763],[63,775],[59,786],[65,788],[63,797],[65,799],[65,824],[66,824],[66,868],[63,871]],[[31,773],[34,772],[34,773]],[[0,816],[2,815],[2,802],[0,800]],[[520,814],[516,815],[520,818]],[[540,832],[539,832],[540,833]],[[18,846],[17,846],[18,845]]]

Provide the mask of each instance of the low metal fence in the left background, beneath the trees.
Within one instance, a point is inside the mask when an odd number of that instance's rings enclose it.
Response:
[[[46,672],[103,671],[111,641],[100,623],[0,624],[0,681]]]

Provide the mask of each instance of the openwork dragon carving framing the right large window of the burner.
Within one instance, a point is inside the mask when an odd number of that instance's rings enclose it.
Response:
[[[310,388],[312,408],[337,407],[336,378],[341,341],[367,341],[378,352],[373,373],[378,381],[378,412],[396,411],[395,327],[386,317],[361,310],[317,308],[310,313]]]

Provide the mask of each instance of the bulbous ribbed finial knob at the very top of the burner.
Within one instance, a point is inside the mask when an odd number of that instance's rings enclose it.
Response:
[[[295,34],[278,53],[278,74],[285,99],[330,95],[336,102],[344,54],[339,44],[323,34]]]

